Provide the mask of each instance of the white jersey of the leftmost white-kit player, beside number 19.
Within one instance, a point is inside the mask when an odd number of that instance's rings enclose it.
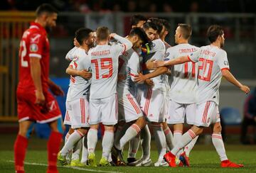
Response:
[[[90,57],[86,54],[85,50],[78,48],[73,52],[74,59],[70,62],[69,67],[73,69],[90,71]],[[70,76],[70,88],[67,96],[67,101],[74,101],[75,99],[84,98],[89,94],[90,80],[82,77]]]

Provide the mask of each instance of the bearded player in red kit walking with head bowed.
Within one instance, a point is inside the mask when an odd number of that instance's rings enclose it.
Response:
[[[36,9],[36,20],[23,33],[19,50],[18,135],[14,143],[14,162],[16,172],[24,172],[23,162],[26,155],[28,138],[26,133],[33,122],[48,123],[52,132],[48,140],[47,172],[58,172],[57,153],[63,134],[58,129],[60,108],[54,95],[63,95],[59,86],[48,78],[50,45],[47,31],[56,25],[58,11],[49,4]]]

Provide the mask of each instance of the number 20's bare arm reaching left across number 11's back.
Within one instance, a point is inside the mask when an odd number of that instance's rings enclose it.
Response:
[[[154,67],[159,68],[159,67],[166,67],[166,66],[171,66],[171,65],[179,65],[183,64],[184,62],[189,62],[191,61],[188,56],[183,56],[183,57],[177,57],[175,59],[169,60],[169,61],[156,61],[154,62]]]

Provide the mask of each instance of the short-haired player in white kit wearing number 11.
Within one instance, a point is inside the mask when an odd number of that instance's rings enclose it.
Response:
[[[172,60],[176,57],[191,55],[191,53],[196,52],[198,47],[188,44],[191,34],[192,28],[190,25],[178,24],[174,35],[177,45],[166,50],[167,57],[165,60]],[[194,62],[186,62],[171,67],[171,90],[167,123],[174,125],[174,145],[181,140],[185,117],[186,123],[193,125],[196,112],[197,71],[197,63]],[[177,157],[180,155],[183,157],[181,160],[183,162],[186,161],[184,163],[188,167],[189,152],[197,139],[198,136],[185,147],[184,152],[180,151],[177,155]],[[183,162],[179,165],[181,166]]]

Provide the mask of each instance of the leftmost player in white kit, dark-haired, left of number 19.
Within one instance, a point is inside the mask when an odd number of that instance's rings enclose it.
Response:
[[[90,69],[90,58],[87,55],[88,50],[94,43],[93,31],[88,28],[80,28],[75,32],[75,38],[80,44],[79,48],[76,48],[72,55],[74,58],[66,72],[70,74],[70,88],[67,96],[67,109],[70,115],[71,128],[75,131],[69,136],[67,142],[63,146],[62,150],[58,153],[58,160],[61,164],[68,164],[66,156],[73,150],[73,147],[78,143],[83,136],[87,134],[87,130],[90,127],[88,123],[89,118],[89,103],[88,96],[90,90],[90,77],[91,74],[85,71]],[[81,145],[80,145],[81,146]],[[82,163],[78,158],[74,160],[73,166],[83,166],[87,161],[87,150],[82,153]]]

